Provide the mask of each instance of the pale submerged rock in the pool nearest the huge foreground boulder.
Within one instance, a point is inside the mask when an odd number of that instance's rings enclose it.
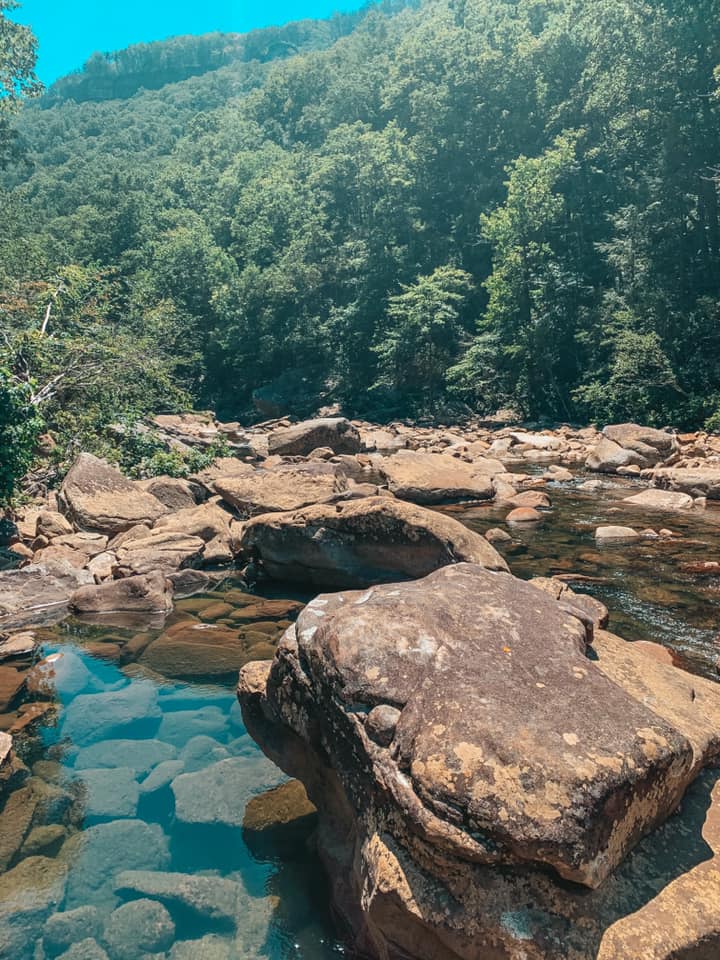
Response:
[[[247,759],[230,758],[176,777],[171,786],[177,819],[181,823],[241,827],[245,801],[277,786],[282,779],[269,761],[259,759],[248,767]]]

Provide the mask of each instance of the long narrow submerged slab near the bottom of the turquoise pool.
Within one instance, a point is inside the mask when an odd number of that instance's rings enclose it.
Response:
[[[118,874],[114,889],[121,897],[150,897],[171,911],[182,907],[202,920],[232,926],[237,924],[241,904],[247,896],[234,880],[150,870],[124,870]]]

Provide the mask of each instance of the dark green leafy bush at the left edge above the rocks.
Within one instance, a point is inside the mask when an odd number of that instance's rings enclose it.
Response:
[[[43,422],[32,404],[32,385],[0,367],[0,506],[7,506],[18,480],[35,457]]]

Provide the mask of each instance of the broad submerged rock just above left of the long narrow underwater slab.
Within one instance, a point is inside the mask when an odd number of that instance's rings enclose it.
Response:
[[[114,820],[89,827],[70,837],[60,857],[72,866],[65,902],[68,909],[112,905],[116,902],[112,882],[120,870],[163,870],[170,862],[162,829],[141,820]]]

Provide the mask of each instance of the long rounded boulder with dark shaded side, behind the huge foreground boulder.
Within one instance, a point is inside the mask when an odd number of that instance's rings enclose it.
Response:
[[[424,577],[468,561],[507,570],[500,554],[457,520],[388,497],[266,514],[248,521],[240,554],[266,574],[321,587]]]

